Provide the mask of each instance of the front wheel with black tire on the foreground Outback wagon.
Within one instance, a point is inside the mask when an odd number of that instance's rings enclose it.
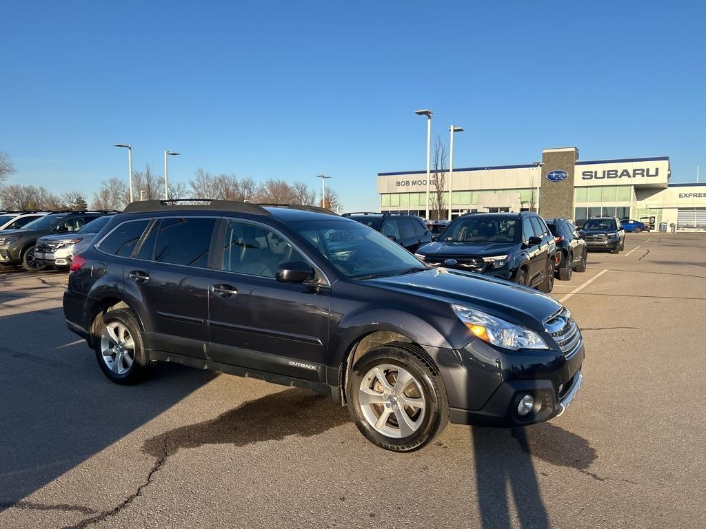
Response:
[[[376,375],[371,375],[376,367],[380,368],[379,372],[385,377],[385,387],[388,389],[381,385]],[[413,380],[402,388],[401,396],[395,396],[399,370],[411,375]],[[368,387],[368,384],[371,385]],[[361,403],[361,394],[365,396],[363,387],[367,387],[375,402]],[[409,394],[410,391],[412,394]],[[424,353],[409,343],[390,343],[360,358],[348,377],[346,396],[348,410],[358,430],[370,442],[385,450],[410,452],[421,449],[441,433],[448,423],[448,399],[441,374]],[[397,402],[404,399],[423,399],[424,406],[414,408],[405,405],[393,411]],[[406,428],[412,433],[404,434],[397,422],[400,413],[409,419]],[[376,424],[381,420],[385,422],[381,423],[378,430],[371,423],[373,420],[376,420]],[[409,426],[410,423],[413,426]]]

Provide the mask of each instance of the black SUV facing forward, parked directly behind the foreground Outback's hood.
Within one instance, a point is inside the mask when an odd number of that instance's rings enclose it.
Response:
[[[554,288],[554,236],[532,212],[462,215],[415,255],[429,265],[499,277],[542,292]]]

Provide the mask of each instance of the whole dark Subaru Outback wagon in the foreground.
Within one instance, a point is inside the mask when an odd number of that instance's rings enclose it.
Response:
[[[549,420],[582,382],[581,333],[554,298],[428,267],[325,209],[133,202],[71,270],[66,322],[113,382],[164,360],[309,388],[394,451],[449,419]]]

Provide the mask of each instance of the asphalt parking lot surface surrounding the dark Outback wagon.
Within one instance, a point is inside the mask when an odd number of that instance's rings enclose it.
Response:
[[[704,233],[628,233],[556,281],[587,355],[564,415],[412,454],[299,389],[179,365],[112,384],[65,283],[0,272],[0,528],[706,526]]]

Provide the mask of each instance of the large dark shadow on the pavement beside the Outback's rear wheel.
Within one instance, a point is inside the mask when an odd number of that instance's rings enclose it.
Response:
[[[61,308],[0,317],[0,511],[217,376],[163,364],[149,381],[119,386],[77,339]]]

